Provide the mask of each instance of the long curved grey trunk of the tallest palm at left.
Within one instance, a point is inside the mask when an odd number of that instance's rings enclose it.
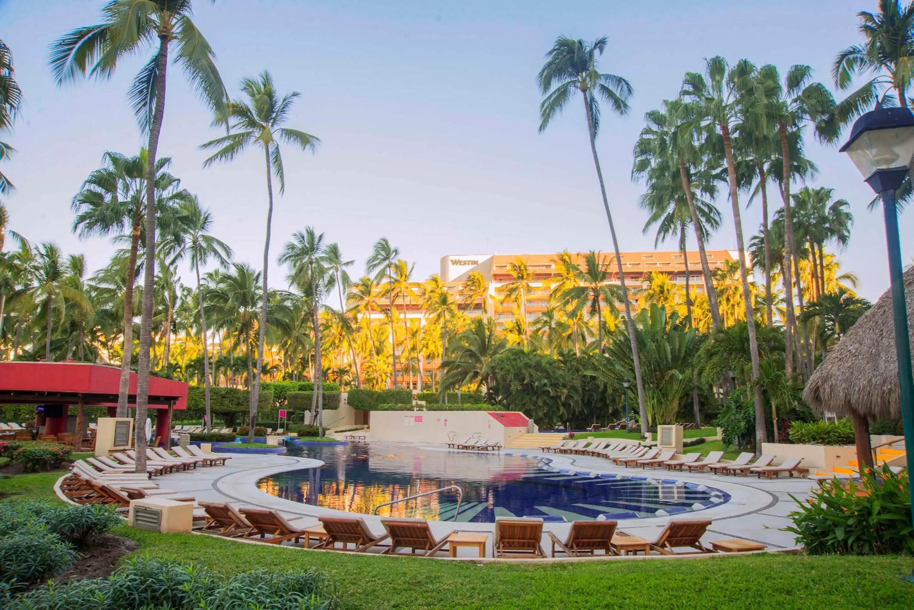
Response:
[[[155,299],[155,155],[159,149],[159,133],[165,117],[165,75],[168,69],[168,40],[170,33],[159,35],[159,56],[156,58],[158,78],[155,79],[155,108],[149,129],[146,167],[146,261],[143,268],[143,314],[140,319],[140,356],[136,373],[136,471],[146,471],[146,406],[149,401],[149,343],[153,334]]]

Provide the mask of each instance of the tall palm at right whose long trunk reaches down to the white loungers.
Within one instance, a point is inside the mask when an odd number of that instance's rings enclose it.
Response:
[[[742,284],[743,300],[746,308],[746,323],[749,330],[749,352],[752,357],[752,383],[755,385],[755,436],[756,447],[761,447],[768,440],[765,427],[765,403],[761,387],[756,384],[760,374],[759,343],[756,336],[755,316],[753,313],[752,295],[749,289],[749,270],[746,266],[746,247],[743,240],[742,220],[739,210],[739,183],[737,180],[736,159],[733,154],[731,130],[739,129],[739,121],[747,114],[744,91],[746,82],[755,74],[755,67],[746,59],[729,68],[727,60],[721,57],[706,60],[705,74],[687,72],[683,80],[682,94],[686,99],[694,100],[696,111],[706,125],[709,135],[719,145],[727,161],[730,205],[733,210],[733,225],[736,232],[737,251],[739,256],[739,279]],[[755,101],[754,99],[749,101]],[[713,133],[710,131],[713,130]],[[787,181],[785,181],[786,183]]]

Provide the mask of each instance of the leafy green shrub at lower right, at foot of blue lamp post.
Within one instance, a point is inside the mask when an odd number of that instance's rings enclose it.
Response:
[[[896,474],[887,466],[853,483],[824,482],[813,489],[812,504],[793,499],[800,510],[789,515],[793,525],[784,530],[811,554],[914,554],[908,485],[907,471]],[[866,495],[857,495],[861,489]]]

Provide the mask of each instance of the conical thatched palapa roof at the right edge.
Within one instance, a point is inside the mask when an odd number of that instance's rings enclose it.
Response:
[[[904,272],[909,341],[914,343],[914,267]],[[888,419],[901,415],[891,289],[847,331],[810,377],[803,398],[817,411]]]

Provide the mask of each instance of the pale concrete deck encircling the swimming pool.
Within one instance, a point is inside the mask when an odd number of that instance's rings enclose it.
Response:
[[[435,451],[454,451],[441,445],[419,446]],[[458,451],[458,453],[463,453]],[[591,473],[617,474],[627,476],[646,476],[653,479],[676,479],[685,483],[707,485],[720,489],[730,495],[730,500],[720,506],[707,508],[671,517],[651,517],[642,519],[619,520],[619,530],[635,536],[654,540],[663,530],[666,523],[673,519],[710,519],[713,524],[702,538],[706,544],[728,538],[740,538],[747,541],[761,542],[769,550],[778,551],[795,547],[796,542],[791,532],[781,528],[792,524],[788,513],[796,510],[796,503],[791,495],[804,501],[810,496],[810,490],[816,485],[812,480],[797,478],[756,479],[755,477],[724,477],[699,473],[669,473],[666,470],[654,471],[620,468],[602,458],[582,456],[554,456],[528,449],[509,449],[503,455],[526,456],[527,458],[548,458],[554,468],[568,468],[579,474]],[[296,526],[308,527],[317,524],[319,516],[358,516],[362,517],[368,527],[375,532],[383,532],[380,517],[341,510],[325,509],[319,506],[303,504],[292,500],[283,500],[257,488],[257,481],[272,474],[287,470],[315,468],[323,462],[312,458],[296,458],[277,455],[240,455],[233,454],[226,466],[196,468],[187,472],[156,477],[154,480],[168,489],[175,489],[181,494],[192,495],[197,500],[209,502],[227,502],[236,508],[255,507],[277,510],[289,520],[296,521]],[[661,474],[663,472],[663,474]],[[431,531],[441,537],[453,530],[479,531],[489,534],[486,555],[492,556],[493,523],[472,523],[463,521],[429,521]],[[544,526],[543,547],[548,550],[546,532],[554,532],[564,540],[570,529],[570,523],[546,523]],[[468,549],[460,549],[460,557],[473,556]],[[564,555],[562,555],[564,556]]]

